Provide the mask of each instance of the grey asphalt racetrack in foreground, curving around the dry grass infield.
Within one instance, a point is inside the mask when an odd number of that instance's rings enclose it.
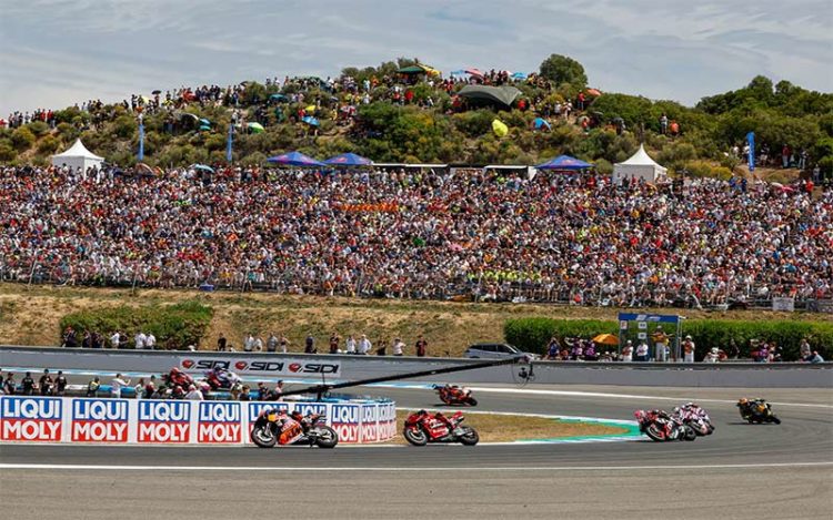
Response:
[[[534,386],[475,390],[478,410],[631,419],[700,400],[716,430],[694,442],[170,448],[0,447],[8,517],[820,518],[833,510],[833,390]],[[400,408],[425,389],[362,388]],[[766,397],[780,426],[741,421],[734,401]],[[12,468],[10,465],[44,465]],[[131,469],[134,468],[134,469]],[[291,506],[287,506],[291,504]],[[289,507],[289,509],[283,509]],[[37,509],[32,509],[37,508]],[[27,514],[27,511],[30,514]]]

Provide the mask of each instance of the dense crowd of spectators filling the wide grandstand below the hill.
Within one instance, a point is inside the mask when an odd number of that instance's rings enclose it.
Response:
[[[119,173],[3,169],[0,276],[615,306],[833,296],[833,190],[810,183]]]

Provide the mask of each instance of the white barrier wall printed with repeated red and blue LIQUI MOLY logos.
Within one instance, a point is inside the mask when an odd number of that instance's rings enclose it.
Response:
[[[397,406],[377,402],[198,401],[0,396],[0,441],[248,445],[265,407],[327,415],[339,442],[397,435]]]

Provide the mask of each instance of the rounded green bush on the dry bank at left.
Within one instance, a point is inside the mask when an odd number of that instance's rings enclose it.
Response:
[[[72,327],[80,335],[89,330],[108,338],[120,330],[132,340],[141,330],[153,334],[159,348],[183,349],[200,344],[212,316],[213,309],[198,302],[138,308],[122,305],[68,314],[61,318],[61,332]]]

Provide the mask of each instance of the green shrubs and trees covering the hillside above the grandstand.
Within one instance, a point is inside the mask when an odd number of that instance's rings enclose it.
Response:
[[[280,86],[244,82],[238,100],[241,116],[261,123],[264,131],[240,131],[234,137],[233,161],[263,164],[268,156],[290,150],[319,159],[354,152],[377,162],[468,164],[535,164],[569,154],[592,161],[606,173],[644,141],[672,172],[684,169],[692,175],[727,176],[743,162],[740,154],[730,151],[742,146],[746,133],[754,131],[759,150],[769,149],[770,159],[780,159],[786,144],[796,154],[806,151],[809,166],[819,164],[823,174],[833,175],[833,94],[807,91],[789,81],[773,84],[756,77],[745,88],[704,98],[695,106],[603,92],[598,98],[588,96],[584,112],[555,119],[556,104],[576,102],[579,93],[589,86],[583,67],[569,58],[552,55],[541,64],[540,74],[513,83],[522,95],[506,110],[456,104],[454,94],[461,84],[446,91],[438,88],[438,80],[431,80],[431,84],[424,75],[402,84],[404,80],[397,70],[412,63],[400,59],[377,68],[344,69],[337,85],[354,83],[355,94],[318,80],[281,82]],[[360,101],[365,79],[374,85],[367,104]],[[397,85],[410,90],[412,100],[400,104],[392,99]],[[298,92],[304,94],[299,102],[272,99],[280,93],[291,100]],[[298,119],[299,111],[311,104],[318,106],[318,129]],[[355,108],[355,116],[337,121],[347,106]],[[228,98],[219,103],[191,102],[177,108],[178,113],[209,120],[210,129],[202,131],[179,121],[169,126],[171,111],[145,111],[144,162],[165,167],[224,164],[232,108]],[[679,124],[676,135],[661,133],[663,114]],[[586,128],[580,124],[582,115],[588,118]],[[552,123],[550,131],[533,130],[539,116]],[[509,126],[508,135],[493,133],[495,118]],[[58,111],[54,129],[40,121],[2,129],[0,163],[48,164],[51,154],[79,136],[111,163],[136,163],[138,122],[129,103],[127,108],[107,104],[92,111]]]

